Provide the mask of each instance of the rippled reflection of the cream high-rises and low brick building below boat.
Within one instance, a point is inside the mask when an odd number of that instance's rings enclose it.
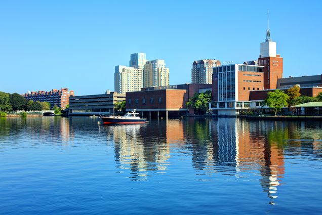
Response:
[[[175,124],[173,124],[175,123]],[[131,170],[131,180],[146,180],[153,171],[167,170],[170,144],[183,137],[182,125],[171,122],[176,130],[167,130],[167,121],[150,124],[109,126],[113,131],[116,167]],[[180,129],[178,129],[180,128]]]

